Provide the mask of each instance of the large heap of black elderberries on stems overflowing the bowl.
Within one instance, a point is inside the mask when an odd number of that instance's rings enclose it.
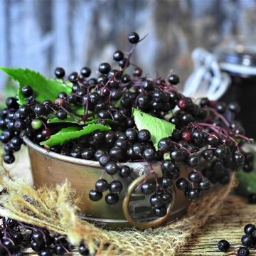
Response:
[[[69,127],[66,119],[71,119],[72,126],[78,127],[96,119],[111,130],[95,131],[45,148],[66,156],[99,161],[105,169],[104,175],[119,174],[129,181],[132,181],[133,170],[129,164],[120,163],[147,162],[147,177],[154,181],[142,182],[137,191],[150,195],[149,203],[156,216],[166,214],[172,201],[172,184],[184,191],[188,199],[197,200],[211,184],[228,183],[231,170],[252,171],[253,155],[241,149],[242,143],[250,139],[245,137],[242,124],[235,120],[235,114],[240,111],[237,103],[225,104],[208,98],[193,102],[176,90],[177,75],[143,76],[142,68],[131,62],[132,53],[142,39],[137,33],[130,33],[128,40],[133,45],[132,50],[129,53],[117,50],[113,54],[118,68],[101,63],[95,77],[88,67],[69,75],[63,68],[56,68],[55,77],[66,86],[71,84],[72,91],[58,92],[53,101],[38,102],[38,95],[30,85],[21,88],[25,105],[19,106],[16,97],[9,97],[6,108],[0,112],[4,161],[14,162],[13,153],[20,149],[24,135],[40,144],[51,134]],[[131,73],[127,73],[128,67],[133,67]],[[81,108],[82,114],[75,111]],[[174,132],[161,138],[156,148],[149,130],[136,127],[132,108],[174,124]],[[63,122],[48,123],[52,117]],[[156,177],[154,164],[161,165],[163,178]],[[191,170],[188,177],[180,177],[182,166]],[[100,201],[104,195],[106,203],[114,205],[119,201],[123,184],[114,178],[109,183],[103,176],[95,183],[89,197]]]

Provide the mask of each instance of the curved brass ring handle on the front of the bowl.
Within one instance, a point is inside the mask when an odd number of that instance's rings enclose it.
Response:
[[[173,200],[171,201],[169,207],[167,208],[167,213],[164,217],[156,218],[155,220],[151,220],[151,221],[137,221],[136,219],[132,218],[132,215],[129,212],[129,201],[130,201],[130,198],[132,196],[134,189],[137,188],[139,183],[144,181],[145,178],[146,178],[146,175],[139,176],[138,178],[134,179],[134,181],[132,181],[132,183],[129,184],[129,187],[127,188],[127,193],[126,193],[126,195],[124,197],[124,201],[122,203],[122,210],[124,213],[124,217],[135,228],[154,228],[154,227],[164,223],[170,217],[171,210],[172,210],[172,208],[174,208],[174,203],[176,200],[176,189],[174,188],[174,185],[172,185],[171,193],[173,196]]]

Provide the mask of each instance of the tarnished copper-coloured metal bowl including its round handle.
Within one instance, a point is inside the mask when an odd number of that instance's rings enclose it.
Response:
[[[81,217],[85,220],[112,228],[131,226],[151,228],[179,218],[186,213],[188,199],[184,196],[183,191],[176,190],[175,186],[172,186],[174,199],[166,216],[155,218],[149,214],[151,210],[149,210],[149,205],[144,203],[145,196],[142,193],[134,193],[137,185],[142,183],[145,178],[143,173],[147,168],[146,162],[125,163],[133,169],[134,176],[131,179],[120,178],[118,174],[114,175],[114,180],[122,181],[124,188],[119,194],[119,203],[109,206],[105,203],[104,197],[97,202],[90,201],[88,198],[89,191],[94,188],[95,182],[104,173],[104,169],[97,161],[87,161],[53,153],[34,144],[27,137],[23,137],[23,141],[28,146],[34,185],[36,187],[46,185],[50,188],[55,187],[56,183],[68,180],[75,188],[76,196],[81,198],[78,207]],[[153,168],[156,176],[161,177],[161,166],[154,163]],[[179,169],[181,177],[187,177],[188,172],[191,171],[190,168],[183,165],[179,166]],[[105,175],[104,178],[107,181],[112,181],[109,175]],[[149,200],[146,201],[149,202]]]

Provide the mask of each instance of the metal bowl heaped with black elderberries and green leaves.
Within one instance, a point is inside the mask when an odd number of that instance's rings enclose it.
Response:
[[[1,68],[18,82],[0,113],[3,161],[11,164],[28,146],[36,187],[68,180],[80,197],[82,218],[98,225],[151,228],[186,213],[191,201],[230,172],[252,169],[250,142],[235,121],[235,102],[193,102],[176,90],[177,75],[144,76],[131,62],[132,48],[55,79],[27,69]],[[129,75],[128,70],[132,67]]]

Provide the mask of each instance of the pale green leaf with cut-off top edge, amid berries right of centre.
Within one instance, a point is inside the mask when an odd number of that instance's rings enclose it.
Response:
[[[152,117],[150,114],[146,114],[135,108],[132,108],[132,117],[139,131],[141,129],[149,130],[151,133],[151,141],[156,150],[158,150],[157,144],[159,140],[171,136],[175,128],[174,124],[157,117]]]

